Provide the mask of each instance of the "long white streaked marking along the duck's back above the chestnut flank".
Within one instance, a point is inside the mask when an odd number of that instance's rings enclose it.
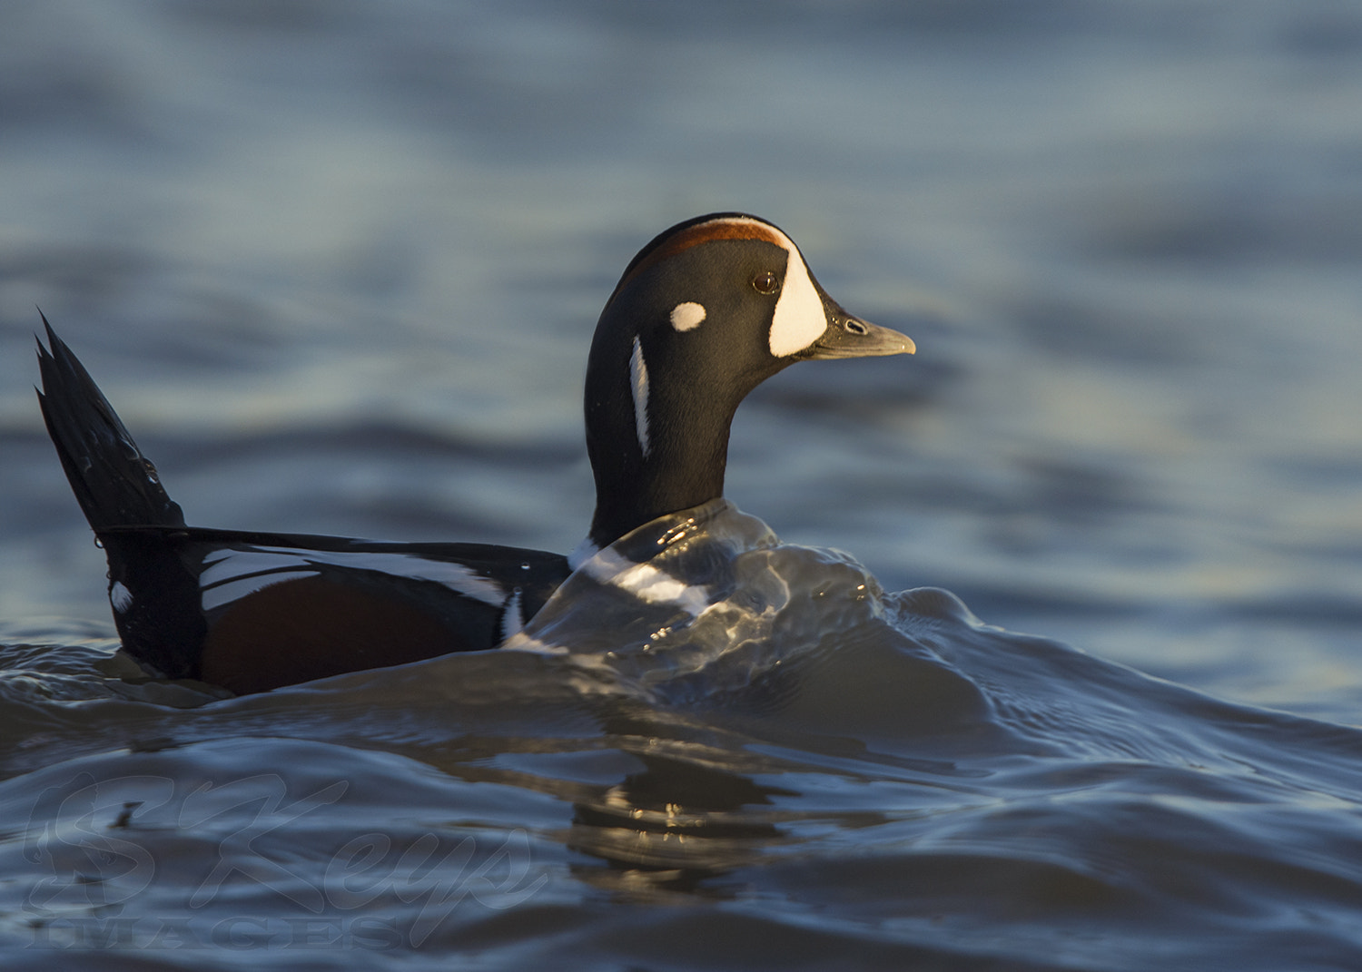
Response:
[[[199,574],[204,610],[226,604],[270,584],[315,576],[316,570],[298,570],[298,568],[323,565],[429,580],[485,604],[501,604],[507,599],[507,592],[500,584],[463,564],[426,560],[415,554],[248,547],[214,550],[203,558],[203,562],[211,565]],[[230,592],[225,591],[229,585]]]

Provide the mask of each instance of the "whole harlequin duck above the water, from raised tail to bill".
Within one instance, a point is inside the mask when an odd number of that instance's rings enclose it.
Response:
[[[673,226],[633,257],[597,324],[586,377],[597,508],[563,557],[188,527],[42,323],[38,399],[108,554],[124,649],[159,675],[236,693],[497,647],[598,550],[722,496],[734,411],[761,381],[804,359],[914,351],[838,306],[764,219],[719,212]]]

